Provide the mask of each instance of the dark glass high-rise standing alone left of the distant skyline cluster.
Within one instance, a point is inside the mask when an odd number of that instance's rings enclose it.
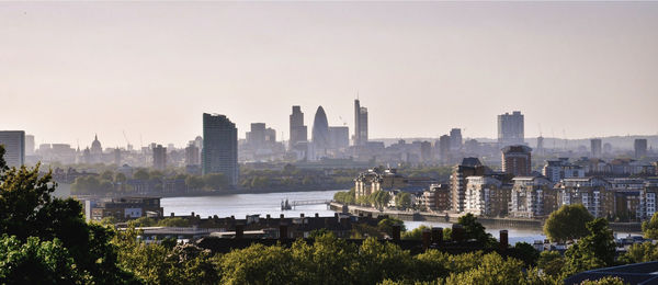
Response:
[[[238,129],[225,115],[203,114],[202,173],[224,173],[238,184]]]

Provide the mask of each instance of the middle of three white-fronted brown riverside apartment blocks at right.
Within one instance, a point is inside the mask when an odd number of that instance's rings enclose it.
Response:
[[[510,216],[517,218],[537,218],[549,215],[557,208],[557,191],[553,183],[540,176],[519,176],[512,179]]]

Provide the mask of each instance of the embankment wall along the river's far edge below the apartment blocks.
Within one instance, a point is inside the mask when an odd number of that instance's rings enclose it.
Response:
[[[344,205],[338,202],[331,202],[329,207],[339,213],[350,213],[353,215],[372,215],[373,217],[386,215],[408,221],[430,221],[430,223],[457,223],[457,219],[465,215],[464,213],[431,213],[431,212],[411,212],[397,209],[376,209],[373,207]],[[523,218],[497,218],[478,217],[477,220],[485,227],[496,228],[519,228],[542,230],[544,219],[523,219]],[[616,232],[642,233],[640,223],[610,223],[610,228]]]

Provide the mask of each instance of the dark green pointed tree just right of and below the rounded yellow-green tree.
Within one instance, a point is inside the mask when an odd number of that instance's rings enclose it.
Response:
[[[578,272],[614,265],[615,243],[608,220],[594,219],[587,224],[589,235],[565,252],[564,273]]]

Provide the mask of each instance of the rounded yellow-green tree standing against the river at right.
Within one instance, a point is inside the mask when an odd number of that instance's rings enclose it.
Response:
[[[544,235],[552,241],[565,242],[588,235],[587,223],[593,216],[581,205],[564,205],[551,213],[544,224]]]

